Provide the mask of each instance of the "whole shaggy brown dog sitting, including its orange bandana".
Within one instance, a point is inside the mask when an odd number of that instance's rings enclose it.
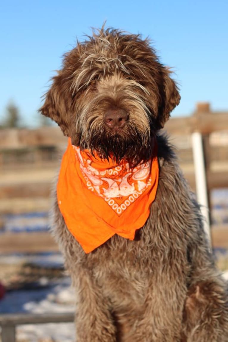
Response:
[[[45,94],[41,113],[69,137],[52,230],[78,342],[228,341],[226,284],[160,133],[179,101],[149,40],[104,27],[65,54]]]

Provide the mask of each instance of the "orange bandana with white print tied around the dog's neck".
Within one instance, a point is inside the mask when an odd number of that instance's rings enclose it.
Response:
[[[158,176],[157,157],[129,168],[124,160],[116,165],[81,151],[69,138],[57,183],[58,206],[85,253],[115,234],[134,239],[149,216]]]

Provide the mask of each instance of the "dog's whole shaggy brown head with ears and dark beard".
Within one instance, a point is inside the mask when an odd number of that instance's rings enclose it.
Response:
[[[147,40],[102,29],[64,56],[40,111],[81,149],[138,162],[179,103],[169,75]]]

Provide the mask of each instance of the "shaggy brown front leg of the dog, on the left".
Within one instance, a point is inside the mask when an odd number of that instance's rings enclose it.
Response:
[[[101,289],[84,270],[74,272],[72,278],[77,287],[76,341],[116,342],[116,327]]]

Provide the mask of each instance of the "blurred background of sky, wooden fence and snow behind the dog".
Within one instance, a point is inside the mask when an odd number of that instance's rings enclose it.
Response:
[[[74,311],[70,279],[48,218],[66,138],[37,110],[61,56],[105,21],[107,27],[149,36],[161,62],[173,67],[182,100],[165,131],[190,187],[210,209],[209,215],[204,211],[205,228],[227,276],[227,11],[225,0],[1,2],[0,315],[17,314],[4,325],[2,342],[13,342],[14,335],[17,342],[74,340],[72,323],[59,323],[56,330],[55,323],[32,316],[59,313],[70,321],[72,315],[64,313]],[[202,163],[195,152],[202,152]],[[30,320],[20,321],[23,314]]]

